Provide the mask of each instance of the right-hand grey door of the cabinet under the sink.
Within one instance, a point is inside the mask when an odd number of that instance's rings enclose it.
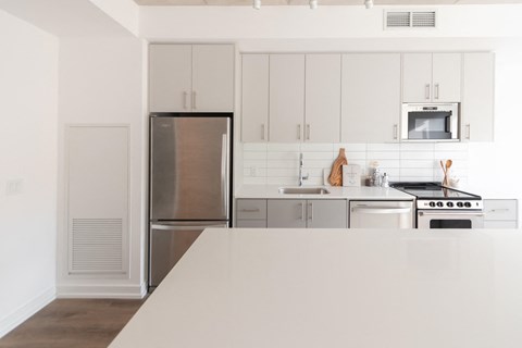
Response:
[[[308,200],[308,228],[346,228],[348,227],[346,200]]]

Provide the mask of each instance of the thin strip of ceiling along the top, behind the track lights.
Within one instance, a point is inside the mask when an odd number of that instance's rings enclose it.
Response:
[[[252,0],[134,0],[140,5],[252,5]],[[308,5],[309,0],[261,0],[263,5]],[[500,4],[522,0],[374,0],[376,5]],[[319,0],[319,5],[363,5],[364,0]]]

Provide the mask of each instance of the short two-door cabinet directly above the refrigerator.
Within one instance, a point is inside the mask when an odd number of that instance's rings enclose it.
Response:
[[[149,110],[234,110],[233,45],[149,46]]]

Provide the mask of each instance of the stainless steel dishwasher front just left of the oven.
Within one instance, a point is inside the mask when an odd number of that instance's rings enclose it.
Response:
[[[413,201],[352,200],[350,228],[413,228]]]

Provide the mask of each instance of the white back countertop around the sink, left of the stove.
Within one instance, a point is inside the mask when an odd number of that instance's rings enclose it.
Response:
[[[281,187],[297,187],[285,185],[244,185],[236,191],[235,198],[271,198],[271,199],[364,199],[364,200],[413,200],[414,197],[395,188],[382,187],[325,187],[327,195],[284,195],[279,194]],[[303,186],[309,187],[309,186]],[[316,187],[316,186],[310,186]]]

